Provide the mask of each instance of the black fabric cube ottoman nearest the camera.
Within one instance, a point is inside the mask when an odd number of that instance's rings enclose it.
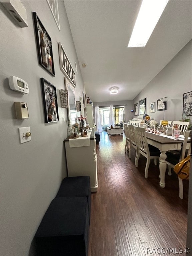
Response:
[[[35,234],[37,255],[87,256],[88,237],[87,198],[55,198]]]

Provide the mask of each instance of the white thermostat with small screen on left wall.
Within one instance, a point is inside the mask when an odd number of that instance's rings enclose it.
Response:
[[[20,92],[20,93],[29,93],[29,87],[27,82],[25,82],[23,79],[16,77],[16,76],[10,76],[9,77],[9,86],[11,90]]]

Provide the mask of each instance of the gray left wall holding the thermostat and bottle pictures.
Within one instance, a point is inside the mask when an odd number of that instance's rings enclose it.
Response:
[[[21,28],[0,3],[0,153],[1,153],[1,237],[0,255],[24,256],[38,225],[66,176],[63,140],[67,137],[67,111],[60,105],[59,89],[64,88],[64,74],[59,67],[60,41],[76,73],[75,96],[82,95],[83,81],[65,12],[58,1],[60,31],[46,0],[22,1],[28,27]],[[55,77],[38,64],[33,23],[36,12],[52,39]],[[76,72],[76,71],[75,71]],[[9,88],[8,77],[17,76],[28,82],[29,94]],[[40,78],[57,88],[59,122],[45,124]],[[14,102],[26,102],[29,119],[17,120]],[[18,127],[30,126],[31,141],[20,144]]]

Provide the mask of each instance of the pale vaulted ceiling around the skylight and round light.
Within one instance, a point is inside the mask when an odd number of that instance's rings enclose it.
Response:
[[[191,39],[191,0],[169,0],[148,43],[139,48],[127,45],[142,1],[64,3],[86,94],[93,102],[133,100]],[[119,87],[118,94],[109,93],[113,86]]]

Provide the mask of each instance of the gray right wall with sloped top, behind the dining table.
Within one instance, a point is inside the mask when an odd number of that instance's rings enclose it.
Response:
[[[158,60],[157,60],[158,61]],[[159,72],[159,74],[134,98],[133,104],[146,98],[146,113],[157,120],[163,120],[163,111],[157,111],[157,100],[168,97],[165,120],[178,121],[183,113],[183,94],[192,91],[191,86],[191,40]],[[149,104],[155,102],[155,113],[150,113]],[[138,118],[142,118],[139,115]],[[189,117],[191,119],[191,116]]]

